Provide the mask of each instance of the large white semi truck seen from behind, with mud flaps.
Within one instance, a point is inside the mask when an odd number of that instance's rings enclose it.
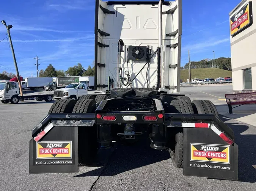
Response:
[[[184,175],[237,180],[232,129],[209,100],[176,93],[181,0],[96,0],[95,8],[94,89],[101,94],[53,103],[32,131],[30,173],[78,172],[113,141],[139,144],[147,137]]]

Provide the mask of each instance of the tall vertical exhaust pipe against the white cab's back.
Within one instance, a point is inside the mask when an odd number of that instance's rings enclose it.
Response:
[[[161,74],[162,74],[162,45],[163,45],[163,18],[162,18],[162,6],[164,0],[160,0],[158,3],[158,48],[157,48],[157,90],[161,88]]]

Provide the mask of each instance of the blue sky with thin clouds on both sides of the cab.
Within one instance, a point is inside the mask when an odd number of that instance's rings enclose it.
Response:
[[[190,60],[230,57],[229,12],[240,0],[182,0],[181,66]],[[13,25],[11,36],[20,75],[36,76],[50,63],[64,71],[94,60],[94,0],[8,0],[1,2],[0,19]],[[6,28],[0,26],[0,40]],[[11,49],[0,42],[0,72],[15,73]]]

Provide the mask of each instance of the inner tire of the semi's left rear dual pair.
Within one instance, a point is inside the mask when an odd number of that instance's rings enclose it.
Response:
[[[80,99],[72,113],[92,113],[95,112],[96,101],[93,99]],[[90,165],[97,156],[97,128],[78,127],[78,160],[79,166]]]

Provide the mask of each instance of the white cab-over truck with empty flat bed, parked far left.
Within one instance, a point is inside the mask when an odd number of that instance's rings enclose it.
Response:
[[[38,102],[45,100],[46,102],[52,101],[53,95],[41,94],[41,95],[19,95],[19,83],[18,82],[0,82],[0,101],[2,103],[19,103],[19,100],[31,100],[36,99]]]

